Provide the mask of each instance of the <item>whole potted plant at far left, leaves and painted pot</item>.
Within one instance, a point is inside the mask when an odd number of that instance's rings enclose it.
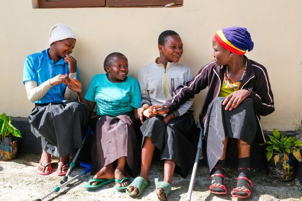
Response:
[[[21,137],[20,131],[11,124],[11,117],[8,119],[3,113],[0,116],[0,161],[17,158],[17,137]]]

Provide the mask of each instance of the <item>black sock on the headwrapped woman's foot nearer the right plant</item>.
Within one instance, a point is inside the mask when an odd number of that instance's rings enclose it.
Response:
[[[251,174],[249,171],[250,158],[245,157],[238,159],[238,177],[246,177],[250,180]],[[249,181],[246,179],[239,179],[237,182],[237,187],[246,187],[246,189],[251,190]],[[248,193],[243,191],[238,191],[235,193],[240,196],[248,196]]]

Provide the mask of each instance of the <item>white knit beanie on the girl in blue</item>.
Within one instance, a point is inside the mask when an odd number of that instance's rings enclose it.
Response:
[[[49,31],[49,46],[58,40],[64,40],[66,38],[74,38],[76,39],[76,33],[72,31],[69,27],[67,27],[65,24],[59,23],[55,24],[50,28]]]

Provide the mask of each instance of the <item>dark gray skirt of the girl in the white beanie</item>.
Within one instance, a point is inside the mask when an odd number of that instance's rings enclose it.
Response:
[[[89,114],[82,103],[63,100],[60,104],[36,104],[28,119],[42,149],[62,157],[82,147]]]

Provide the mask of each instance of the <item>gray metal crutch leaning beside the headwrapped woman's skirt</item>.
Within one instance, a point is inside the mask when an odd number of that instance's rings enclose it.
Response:
[[[194,181],[195,181],[196,172],[197,172],[198,161],[199,161],[199,159],[204,158],[203,155],[202,155],[202,133],[203,133],[203,130],[200,126],[199,121],[197,122],[196,125],[197,125],[198,128],[200,128],[200,134],[199,134],[199,140],[198,140],[198,145],[197,145],[197,153],[196,153],[196,156],[195,156],[195,162],[194,162],[194,166],[193,166],[193,171],[192,171],[192,176],[191,176],[191,181],[190,181],[186,201],[191,201],[192,191],[193,191],[193,187],[194,187]]]

